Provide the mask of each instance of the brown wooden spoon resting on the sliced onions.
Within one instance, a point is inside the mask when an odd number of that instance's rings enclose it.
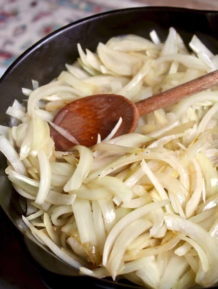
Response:
[[[107,137],[120,117],[123,121],[114,137],[133,132],[139,116],[215,85],[218,85],[218,70],[136,103],[122,95],[91,95],[67,104],[56,114],[53,123],[67,130],[81,145],[90,147],[96,144],[98,133],[101,139]],[[51,136],[57,150],[66,151],[75,145],[52,127]]]

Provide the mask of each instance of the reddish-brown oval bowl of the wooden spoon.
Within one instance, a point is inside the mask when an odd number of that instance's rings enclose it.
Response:
[[[122,95],[97,94],[80,98],[67,104],[54,117],[53,122],[70,132],[80,145],[90,147],[97,142],[98,134],[105,139],[122,117],[115,137],[133,132],[139,114],[134,103]],[[72,142],[50,129],[57,150],[66,151]]]

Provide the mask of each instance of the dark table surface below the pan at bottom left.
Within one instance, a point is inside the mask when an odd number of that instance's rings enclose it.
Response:
[[[39,273],[24,255],[14,225],[0,208],[0,289],[46,289]]]

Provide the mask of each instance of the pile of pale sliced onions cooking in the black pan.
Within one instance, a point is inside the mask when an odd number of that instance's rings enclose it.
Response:
[[[122,118],[93,147],[52,123],[66,103],[117,93],[136,102],[218,69],[194,35],[190,53],[174,28],[161,43],[137,35],[77,45],[79,58],[49,84],[22,88],[0,126],[5,170],[27,199],[23,221],[34,237],[83,274],[119,275],[149,288],[218,282],[218,90],[208,89],[140,117],[115,137]],[[73,120],[72,120],[73,124]],[[55,150],[49,125],[77,144]]]

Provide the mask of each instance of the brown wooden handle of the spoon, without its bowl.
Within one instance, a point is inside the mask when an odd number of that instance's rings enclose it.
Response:
[[[138,114],[143,115],[215,85],[218,85],[218,70],[136,102],[135,105]]]

